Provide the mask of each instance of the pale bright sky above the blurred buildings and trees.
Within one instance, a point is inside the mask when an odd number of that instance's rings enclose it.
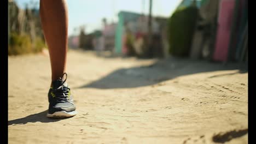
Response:
[[[169,17],[182,0],[152,0],[152,15]],[[39,0],[15,0],[24,9],[26,3]],[[77,35],[79,26],[85,26],[85,33],[101,29],[102,19],[117,22],[121,10],[135,13],[149,13],[149,0],[66,0],[68,7],[68,35]],[[75,31],[75,29],[77,29]]]

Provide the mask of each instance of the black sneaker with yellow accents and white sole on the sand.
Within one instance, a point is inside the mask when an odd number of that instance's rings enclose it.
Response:
[[[64,75],[66,75],[65,80],[63,80]],[[53,87],[49,90],[49,109],[47,117],[62,118],[77,115],[70,88],[66,83],[67,74],[64,73],[63,76],[54,81]]]

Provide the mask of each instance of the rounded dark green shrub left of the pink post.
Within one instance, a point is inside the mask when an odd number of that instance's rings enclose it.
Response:
[[[169,52],[173,56],[188,56],[198,9],[191,5],[178,8],[168,19]]]

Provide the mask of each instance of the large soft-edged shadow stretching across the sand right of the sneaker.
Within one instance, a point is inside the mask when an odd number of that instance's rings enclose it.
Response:
[[[205,73],[218,70],[237,70],[236,73],[246,73],[247,64],[217,63],[208,61],[193,61],[183,58],[169,58],[142,67],[123,68],[113,71],[105,77],[77,88],[134,88],[154,85],[171,80],[178,76]],[[234,72],[228,74],[236,74]],[[225,74],[226,75],[226,74]],[[217,77],[222,75],[216,75]],[[212,78],[210,77],[210,78]]]

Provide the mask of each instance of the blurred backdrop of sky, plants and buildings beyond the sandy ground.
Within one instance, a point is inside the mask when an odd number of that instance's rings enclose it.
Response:
[[[69,49],[248,61],[247,0],[67,1]],[[8,0],[8,55],[47,49],[39,0]]]

